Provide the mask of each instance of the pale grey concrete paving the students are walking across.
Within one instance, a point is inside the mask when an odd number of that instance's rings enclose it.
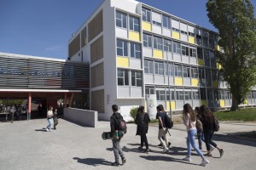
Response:
[[[136,136],[136,125],[128,124],[128,133],[121,141],[127,162],[121,167],[112,167],[111,140],[102,140],[102,132],[109,131],[109,122],[100,122],[96,128],[81,127],[59,119],[54,132],[45,132],[46,119],[0,122],[0,169],[1,170],[80,170],[80,169],[255,169],[255,140],[233,138],[229,133],[256,130],[256,123],[222,122],[220,132],[214,140],[224,148],[219,158],[213,150],[210,163],[201,167],[201,158],[192,151],[192,162],[182,161],[186,156],[186,131],[182,124],[170,130],[172,149],[161,154],[157,146],[158,127],[149,127],[149,154],[137,150],[140,138]],[[203,150],[206,150],[203,145]]]

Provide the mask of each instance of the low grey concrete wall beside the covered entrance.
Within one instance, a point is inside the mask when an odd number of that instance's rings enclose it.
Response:
[[[85,127],[96,127],[98,122],[98,112],[75,108],[64,108],[64,119]]]

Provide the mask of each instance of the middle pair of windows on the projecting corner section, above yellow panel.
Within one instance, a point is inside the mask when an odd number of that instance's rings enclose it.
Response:
[[[119,56],[131,57],[134,59],[142,58],[141,44],[117,39],[116,53]]]

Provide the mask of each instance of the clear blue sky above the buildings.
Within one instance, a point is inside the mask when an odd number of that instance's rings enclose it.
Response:
[[[207,0],[138,1],[216,31],[207,18]],[[251,2],[256,7],[256,0]],[[100,3],[102,0],[0,0],[0,52],[67,59],[72,33]]]

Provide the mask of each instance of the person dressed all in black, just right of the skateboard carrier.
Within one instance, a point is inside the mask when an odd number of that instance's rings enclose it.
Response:
[[[147,133],[148,133],[148,122],[150,122],[148,113],[144,112],[144,106],[139,106],[137,110],[137,116],[135,120],[137,124],[137,133],[136,135],[141,136],[141,146],[138,147],[139,150],[143,150],[143,144],[145,143],[146,150],[144,150],[145,153],[148,153],[148,139],[147,139]]]

